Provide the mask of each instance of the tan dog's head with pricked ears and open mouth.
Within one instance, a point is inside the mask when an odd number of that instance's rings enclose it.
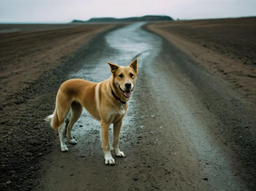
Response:
[[[125,98],[131,97],[136,82],[136,75],[138,73],[137,58],[130,63],[129,66],[118,66],[111,62],[108,62],[108,64],[110,65],[113,74],[116,89],[118,89],[120,94],[124,95]]]

